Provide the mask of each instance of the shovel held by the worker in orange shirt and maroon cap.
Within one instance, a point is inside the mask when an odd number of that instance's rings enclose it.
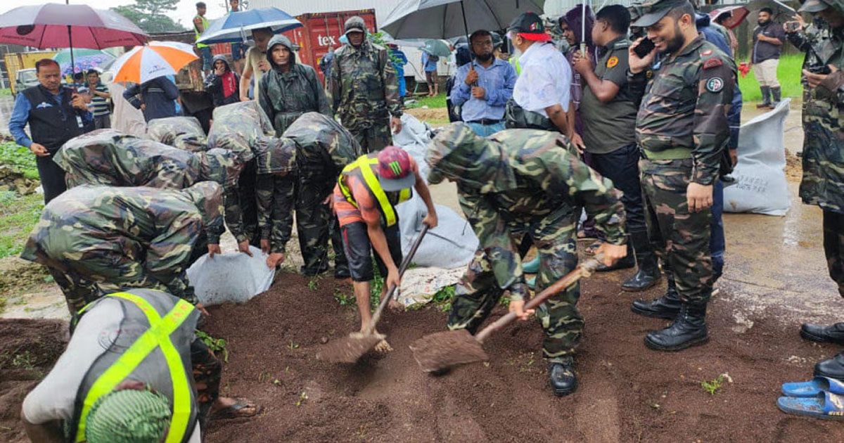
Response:
[[[422,231],[416,237],[416,240],[414,240],[413,246],[410,246],[408,255],[404,257],[401,266],[398,267],[398,278],[402,278],[404,275],[404,271],[410,265],[410,260],[413,259],[416,250],[419,249],[419,244],[422,243],[422,239],[427,232],[428,225],[425,224],[422,227]],[[365,332],[352,334],[349,337],[340,338],[334,340],[332,343],[328,343],[317,353],[317,359],[326,360],[331,363],[355,363],[360,357],[363,357],[375,348],[378,343],[381,343],[384,336],[380,334],[376,335],[372,332],[375,331],[375,326],[381,318],[381,312],[384,311],[384,307],[392,299],[392,294],[396,292],[396,289],[398,289],[396,286],[392,286],[387,291],[387,294],[384,295],[384,298],[381,299],[381,303],[378,305],[375,314],[372,315],[372,320],[366,326]]]

